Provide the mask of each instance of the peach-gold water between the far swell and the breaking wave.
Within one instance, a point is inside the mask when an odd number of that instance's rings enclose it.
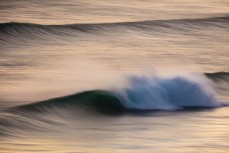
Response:
[[[160,73],[228,70],[229,37],[224,29],[192,31],[181,26],[186,33],[114,27],[100,34],[73,31],[75,37],[26,40],[23,48],[17,47],[20,42],[12,44],[0,61],[15,65],[0,69],[1,100],[38,101],[109,88],[123,83],[128,73],[147,74],[154,68]]]

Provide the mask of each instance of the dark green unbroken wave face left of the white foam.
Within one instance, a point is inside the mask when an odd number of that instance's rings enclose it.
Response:
[[[117,114],[125,110],[121,101],[114,93],[103,90],[92,90],[77,93],[70,96],[59,97],[42,101],[38,103],[32,103],[23,106],[17,106],[11,111],[23,112],[43,112],[52,108],[82,108],[93,112],[99,112],[103,114]]]

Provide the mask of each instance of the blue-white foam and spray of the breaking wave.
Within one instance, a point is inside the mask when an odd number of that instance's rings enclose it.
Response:
[[[116,92],[129,109],[176,110],[223,105],[202,75],[131,76],[128,82],[127,88]]]

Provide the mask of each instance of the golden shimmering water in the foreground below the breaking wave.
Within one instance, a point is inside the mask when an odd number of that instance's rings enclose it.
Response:
[[[3,152],[228,152],[228,108],[66,121],[49,133],[5,139]],[[58,131],[55,131],[58,129]],[[15,132],[16,134],[16,132]]]

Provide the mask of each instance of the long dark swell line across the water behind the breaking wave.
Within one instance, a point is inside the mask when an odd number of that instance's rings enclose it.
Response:
[[[179,28],[181,25],[181,28]],[[149,29],[152,26],[162,28],[174,28],[185,30],[184,26],[216,26],[229,27],[229,16],[198,18],[198,19],[171,19],[171,20],[147,20],[136,22],[118,22],[118,23],[88,23],[88,24],[66,24],[66,25],[42,25],[34,23],[9,22],[0,23],[0,35],[15,35],[25,33],[32,35],[36,33],[64,34],[63,30],[75,30],[78,32],[92,33],[102,28],[112,29],[113,27]]]

